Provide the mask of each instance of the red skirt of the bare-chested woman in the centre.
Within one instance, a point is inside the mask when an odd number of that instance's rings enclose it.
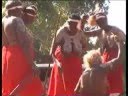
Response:
[[[64,81],[57,65],[54,64],[51,71],[48,96],[74,95],[74,88],[82,73],[82,62],[74,54],[69,57],[62,57],[60,48],[57,48],[55,56],[62,63]],[[64,86],[66,87],[66,91]]]

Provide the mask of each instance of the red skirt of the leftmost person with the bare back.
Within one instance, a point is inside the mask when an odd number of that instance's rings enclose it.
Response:
[[[2,96],[9,96],[10,92],[31,73],[23,51],[19,45],[3,46],[2,48]],[[19,93],[20,96],[41,96],[43,86],[38,77],[33,77],[25,88]]]

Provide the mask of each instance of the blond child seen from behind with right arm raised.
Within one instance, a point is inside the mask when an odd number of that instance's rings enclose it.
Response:
[[[83,62],[86,69],[82,73],[75,92],[80,93],[80,96],[107,96],[107,73],[118,66],[122,51],[122,44],[117,36],[114,40],[118,46],[118,56],[105,64],[102,62],[100,50],[91,50],[83,56]]]

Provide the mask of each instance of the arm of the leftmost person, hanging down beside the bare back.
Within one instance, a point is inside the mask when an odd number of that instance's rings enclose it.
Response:
[[[26,27],[22,21],[22,19],[20,18],[15,18],[14,22],[14,31],[17,37],[17,41],[18,44],[21,46],[21,48],[23,49],[23,52],[27,58],[27,60],[29,61],[29,63],[33,66],[33,58],[30,54],[30,41],[29,41],[29,37],[27,35],[26,32]]]

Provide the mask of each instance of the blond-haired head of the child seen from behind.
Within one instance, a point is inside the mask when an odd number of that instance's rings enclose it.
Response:
[[[83,56],[83,62],[86,67],[91,68],[93,64],[101,64],[102,63],[102,56],[100,53],[100,49],[93,49],[87,52]]]

